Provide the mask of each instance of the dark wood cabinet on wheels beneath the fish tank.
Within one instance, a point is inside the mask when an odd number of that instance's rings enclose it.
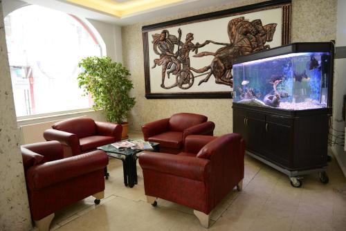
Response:
[[[246,140],[246,154],[289,176],[293,187],[318,172],[328,183],[328,124],[331,108],[287,111],[233,102],[233,131]]]

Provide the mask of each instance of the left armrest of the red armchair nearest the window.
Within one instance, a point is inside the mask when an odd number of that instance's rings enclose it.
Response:
[[[66,131],[47,129],[44,131],[44,138],[48,140],[57,140],[62,145],[71,147],[73,156],[80,154],[80,139],[77,135]]]

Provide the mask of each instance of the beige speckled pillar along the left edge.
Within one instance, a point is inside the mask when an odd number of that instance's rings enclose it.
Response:
[[[0,230],[32,228],[0,1]]]

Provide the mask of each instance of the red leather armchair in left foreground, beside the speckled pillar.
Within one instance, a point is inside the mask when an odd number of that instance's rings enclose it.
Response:
[[[39,230],[48,230],[54,212],[94,196],[104,198],[104,151],[63,158],[60,142],[38,142],[21,147],[30,212]]]

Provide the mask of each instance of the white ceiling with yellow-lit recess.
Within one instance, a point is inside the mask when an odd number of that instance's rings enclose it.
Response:
[[[120,26],[221,6],[237,0],[21,0]]]

